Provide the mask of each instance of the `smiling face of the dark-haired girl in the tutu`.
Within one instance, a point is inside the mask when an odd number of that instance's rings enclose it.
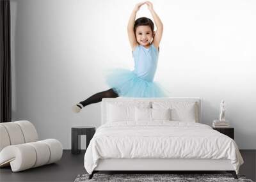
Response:
[[[153,32],[150,26],[138,26],[136,28],[136,40],[140,45],[147,46],[150,44]]]

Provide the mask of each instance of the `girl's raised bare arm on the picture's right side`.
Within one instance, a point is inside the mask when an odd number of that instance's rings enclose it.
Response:
[[[145,1],[145,3],[147,4],[148,10],[150,11],[153,17],[154,22],[156,23],[157,30],[156,33],[154,34],[154,39],[152,43],[154,43],[154,46],[158,49],[163,35],[163,23],[159,19],[156,12],[153,10],[153,4],[150,1]]]

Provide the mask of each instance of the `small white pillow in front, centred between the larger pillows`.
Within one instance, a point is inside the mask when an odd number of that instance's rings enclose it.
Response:
[[[168,109],[148,109],[135,107],[135,121],[170,120],[171,112]]]

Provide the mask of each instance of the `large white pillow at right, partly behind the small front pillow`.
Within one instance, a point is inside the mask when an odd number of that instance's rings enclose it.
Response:
[[[154,109],[171,109],[172,121],[198,122],[196,102],[152,102]]]

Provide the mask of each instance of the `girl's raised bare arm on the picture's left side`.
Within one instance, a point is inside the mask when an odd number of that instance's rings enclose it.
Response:
[[[136,40],[136,36],[134,34],[134,31],[133,31],[134,22],[135,22],[135,18],[136,18],[136,13],[137,13],[138,10],[140,10],[140,7],[145,3],[146,2],[136,4],[134,9],[132,10],[132,14],[131,14],[131,17],[130,17],[129,22],[128,22],[127,33],[128,33],[129,42],[130,42],[130,45],[131,45],[131,48],[132,48],[133,51],[134,51],[136,45],[138,45],[138,42]]]

